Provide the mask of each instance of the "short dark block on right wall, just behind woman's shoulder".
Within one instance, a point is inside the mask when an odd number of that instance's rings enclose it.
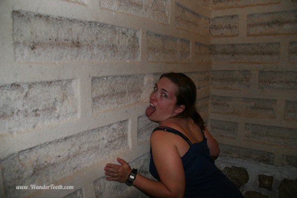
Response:
[[[237,136],[238,123],[236,122],[210,119],[208,126],[209,126],[209,130],[211,131],[211,134],[213,135],[230,137],[230,138],[236,138]]]

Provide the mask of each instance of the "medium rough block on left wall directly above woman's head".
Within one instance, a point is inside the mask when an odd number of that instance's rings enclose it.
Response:
[[[190,62],[190,41],[147,32],[147,53],[150,61]]]

